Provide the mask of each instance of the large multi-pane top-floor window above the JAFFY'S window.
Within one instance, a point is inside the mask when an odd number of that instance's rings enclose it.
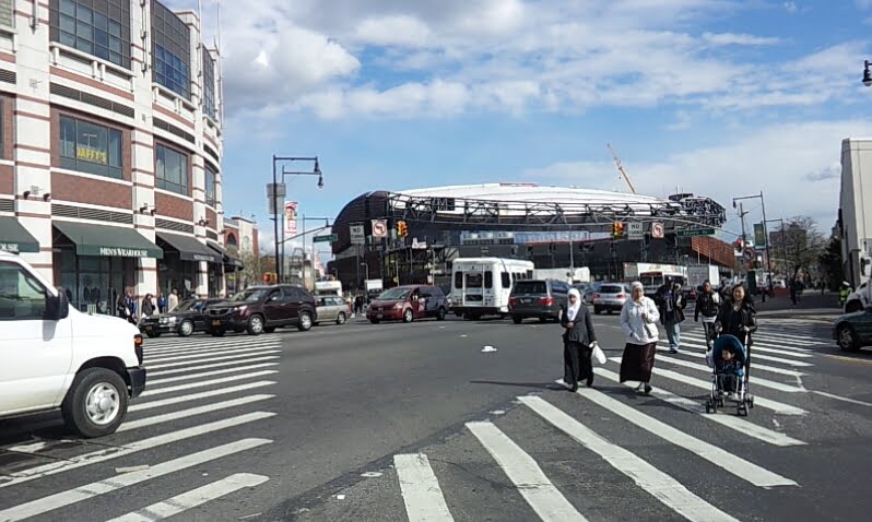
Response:
[[[130,69],[128,0],[50,0],[49,27],[51,41]]]

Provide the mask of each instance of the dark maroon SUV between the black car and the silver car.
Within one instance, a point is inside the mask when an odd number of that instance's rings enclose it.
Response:
[[[220,337],[227,331],[250,335],[296,327],[302,332],[318,320],[315,298],[301,286],[250,286],[227,301],[210,305],[207,329]]]

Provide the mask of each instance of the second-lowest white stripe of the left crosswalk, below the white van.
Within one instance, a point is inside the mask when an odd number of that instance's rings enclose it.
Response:
[[[271,442],[272,441],[269,439],[243,439],[228,444],[210,448],[208,450],[191,453],[179,459],[162,462],[151,466],[148,470],[116,475],[114,477],[106,478],[105,481],[98,481],[85,486],[68,489],[62,493],[49,495],[48,497],[4,509],[0,511],[0,520],[12,522],[30,519],[31,517],[36,517],[38,514],[48,513],[56,509],[66,508],[67,506],[72,506],[99,495],[117,491],[123,487],[133,486],[152,478],[180,472],[189,467],[221,459],[222,456],[251,450]]]

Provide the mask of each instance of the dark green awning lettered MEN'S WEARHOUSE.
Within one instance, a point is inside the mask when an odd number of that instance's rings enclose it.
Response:
[[[132,228],[54,222],[55,228],[75,244],[79,256],[163,259],[164,251]]]

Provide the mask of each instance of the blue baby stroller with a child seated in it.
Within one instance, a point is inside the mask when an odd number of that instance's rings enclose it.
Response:
[[[711,367],[711,394],[706,402],[706,413],[718,413],[718,407],[726,407],[729,401],[735,404],[737,415],[746,417],[749,408],[754,407],[754,396],[749,389],[751,351],[747,337],[742,344],[733,335],[720,335],[707,363]]]

